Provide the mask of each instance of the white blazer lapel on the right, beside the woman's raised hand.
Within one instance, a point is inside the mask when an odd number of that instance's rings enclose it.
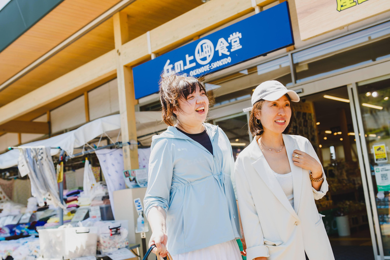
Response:
[[[293,152],[294,150],[303,150],[299,148],[294,139],[289,136],[283,135],[284,146],[286,147],[288,161],[290,163],[291,172],[293,172],[293,187],[294,187],[294,210],[298,213],[299,205],[301,202],[302,182],[303,182],[303,169],[294,165]]]

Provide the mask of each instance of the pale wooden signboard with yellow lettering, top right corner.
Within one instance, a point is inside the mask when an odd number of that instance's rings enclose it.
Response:
[[[295,0],[302,41],[390,11],[389,0]]]

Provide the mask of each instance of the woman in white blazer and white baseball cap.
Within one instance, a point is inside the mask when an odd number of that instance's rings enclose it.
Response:
[[[252,95],[255,137],[238,156],[235,181],[248,260],[334,259],[314,200],[328,183],[310,142],[286,135],[297,93],[267,81]]]

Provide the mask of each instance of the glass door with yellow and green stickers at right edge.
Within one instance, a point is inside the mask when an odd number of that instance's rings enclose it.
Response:
[[[356,111],[381,259],[390,259],[390,79],[355,86]]]

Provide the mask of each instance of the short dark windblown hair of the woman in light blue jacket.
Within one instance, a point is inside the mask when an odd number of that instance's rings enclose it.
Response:
[[[175,124],[176,114],[173,113],[173,110],[175,107],[180,109],[178,100],[180,98],[186,100],[197,89],[205,91],[211,105],[214,99],[212,95],[207,93],[203,81],[182,74],[161,75],[159,82],[160,102],[163,120],[167,125],[173,126]]]

